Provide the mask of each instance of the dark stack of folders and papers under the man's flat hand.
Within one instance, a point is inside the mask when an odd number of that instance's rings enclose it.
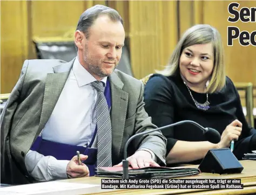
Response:
[[[167,167],[147,167],[142,169],[129,168],[129,178],[174,178],[198,175],[197,168],[167,168]],[[98,177],[123,178],[123,167],[101,167],[96,169]]]

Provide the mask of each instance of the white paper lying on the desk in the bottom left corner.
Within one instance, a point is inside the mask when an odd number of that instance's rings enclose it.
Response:
[[[79,184],[79,183],[70,183],[70,182],[42,182],[36,184],[26,184],[26,185],[16,185],[10,187],[1,187],[0,194],[38,194],[38,193],[48,193],[64,190],[77,190],[77,189],[86,189],[89,187],[95,187],[100,185],[94,184]]]

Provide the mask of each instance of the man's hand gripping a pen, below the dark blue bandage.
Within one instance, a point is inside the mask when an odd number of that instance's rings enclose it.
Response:
[[[81,161],[85,161],[87,158],[87,155],[80,155]],[[84,163],[78,165],[77,156],[74,156],[66,166],[66,175],[68,175],[68,178],[89,177],[90,172]]]

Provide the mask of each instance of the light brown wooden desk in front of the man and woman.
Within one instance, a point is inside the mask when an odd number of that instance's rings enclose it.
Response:
[[[256,194],[256,161],[240,161],[244,170],[239,174],[230,175],[218,175],[212,173],[201,173],[197,176],[184,177],[184,179],[241,179],[241,183],[244,184],[244,189],[226,189],[226,190],[191,190],[191,189],[170,189],[170,190],[102,190],[101,187],[91,187],[90,189],[79,189],[76,191],[65,191],[62,194]],[[198,165],[187,166],[191,168],[197,168]],[[87,177],[62,180],[60,182],[73,182],[73,183],[86,183],[86,184],[101,184],[102,177]],[[206,192],[207,191],[207,192]],[[55,193],[57,194],[57,193]]]

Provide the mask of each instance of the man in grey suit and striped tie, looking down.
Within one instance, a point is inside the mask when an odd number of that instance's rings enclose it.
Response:
[[[1,115],[2,183],[93,176],[96,166],[122,166],[127,140],[156,128],[144,110],[143,83],[115,70],[124,39],[118,12],[95,5],[80,16],[75,59],[24,62]],[[129,163],[164,164],[165,147],[159,131],[138,137]]]

